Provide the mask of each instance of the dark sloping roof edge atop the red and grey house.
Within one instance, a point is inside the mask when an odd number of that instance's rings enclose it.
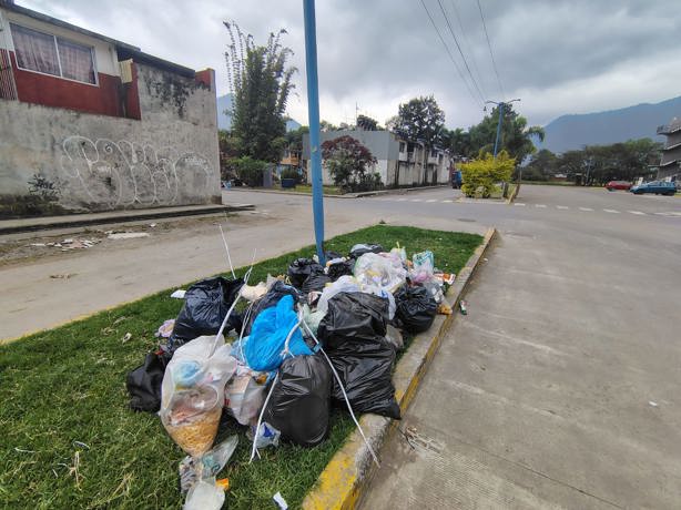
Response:
[[[71,30],[73,32],[82,33],[83,35],[88,35],[94,39],[99,39],[100,41],[108,42],[115,47],[116,52],[119,53],[119,58],[121,60],[124,59],[133,59],[135,62],[146,63],[149,65],[153,65],[160,69],[164,69],[167,71],[172,71],[176,74],[194,78],[195,71],[190,68],[185,68],[184,65],[179,65],[173,62],[169,62],[167,60],[160,59],[154,55],[150,55],[149,53],[144,53],[140,48],[129,44],[123,41],[119,41],[116,39],[109,38],[106,35],[102,35],[101,33],[93,32],[88,29],[83,29],[72,23],[68,23],[67,21],[59,20],[57,18],[52,18],[51,16],[43,14],[42,12],[34,11],[32,9],[27,9],[26,7],[17,6],[13,0],[0,0],[0,8],[7,9],[11,12],[17,12],[18,14],[23,14],[29,18],[33,18],[39,21],[43,21],[45,23],[53,24],[55,27],[61,27],[67,30]]]

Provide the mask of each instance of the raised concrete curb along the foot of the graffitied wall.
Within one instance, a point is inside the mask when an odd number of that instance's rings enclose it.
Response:
[[[144,220],[159,220],[163,217],[182,217],[182,216],[199,216],[204,214],[218,214],[222,212],[231,213],[238,211],[251,211],[255,208],[252,204],[240,205],[215,205],[202,208],[190,210],[173,210],[173,211],[146,211],[139,214],[106,214],[99,217],[78,217],[72,216],[59,216],[51,223],[28,223],[24,225],[3,226],[0,222],[0,235],[3,234],[19,234],[23,232],[37,232],[37,231],[50,231],[54,228],[73,228],[89,225],[105,225],[110,223],[129,223],[139,222]],[[87,215],[85,215],[87,216]],[[34,218],[30,218],[34,220]],[[40,220],[40,218],[38,218]]]

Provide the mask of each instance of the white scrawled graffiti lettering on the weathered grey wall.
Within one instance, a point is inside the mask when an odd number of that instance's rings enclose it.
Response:
[[[120,208],[205,202],[218,177],[194,152],[73,135],[62,143],[62,182],[80,206]]]

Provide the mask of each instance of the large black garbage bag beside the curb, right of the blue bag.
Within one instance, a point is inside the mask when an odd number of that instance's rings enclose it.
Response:
[[[317,336],[353,410],[399,419],[392,380],[395,347],[385,339],[387,319],[387,299],[366,293],[340,293],[328,302]],[[332,397],[345,406],[335,379]]]

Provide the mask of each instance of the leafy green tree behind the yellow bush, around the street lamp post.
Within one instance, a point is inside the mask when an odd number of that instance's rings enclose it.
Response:
[[[498,123],[499,106],[495,106],[479,124],[468,129],[474,154],[478,151],[492,152]],[[543,141],[543,135],[542,128],[538,125],[528,126],[527,119],[519,115],[514,110],[512,104],[506,104],[501,120],[499,151],[506,150],[518,163],[522,163],[527,155],[533,154],[537,150],[532,140]]]

